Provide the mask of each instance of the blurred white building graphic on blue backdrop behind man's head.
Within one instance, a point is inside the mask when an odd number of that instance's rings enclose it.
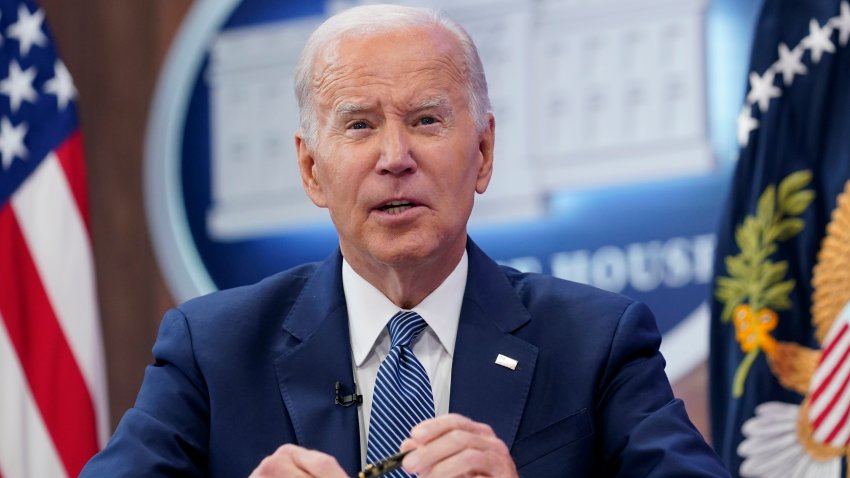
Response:
[[[332,1],[326,11],[360,3]],[[571,186],[710,170],[706,3],[431,1],[478,45],[496,114],[496,172],[473,220],[542,215],[551,193]],[[292,71],[321,21],[230,30],[215,40],[207,78],[214,238],[326,218],[301,189],[292,142]]]

